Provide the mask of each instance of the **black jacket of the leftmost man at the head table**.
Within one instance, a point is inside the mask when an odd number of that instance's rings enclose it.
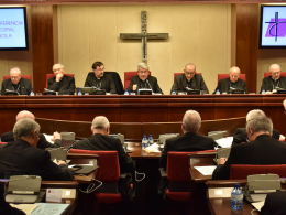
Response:
[[[4,95],[6,89],[18,92],[20,95],[30,95],[32,90],[32,84],[30,79],[22,78],[19,82],[19,90],[13,88],[11,79],[6,79],[2,82],[1,94]]]

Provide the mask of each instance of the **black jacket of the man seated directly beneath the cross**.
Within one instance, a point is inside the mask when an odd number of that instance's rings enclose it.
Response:
[[[156,78],[156,77],[154,77],[154,76],[148,76],[148,77],[147,77],[147,80],[148,80],[148,84],[150,84],[150,86],[151,86],[153,93],[161,93],[161,94],[163,94],[162,89],[161,89],[160,86],[158,86],[158,82],[157,82],[157,78]],[[147,84],[147,83],[144,83],[144,86],[146,86],[146,88],[150,88],[148,84]],[[138,85],[138,89],[143,88],[143,87],[141,87],[142,80],[139,78],[138,75],[136,75],[136,76],[133,76],[133,77],[131,78],[131,83],[130,83],[130,85],[129,85],[129,87],[128,87],[128,92],[129,92],[129,93],[133,92],[133,85]]]

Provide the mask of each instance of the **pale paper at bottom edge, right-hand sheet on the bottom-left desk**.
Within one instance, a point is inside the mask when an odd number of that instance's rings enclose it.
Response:
[[[31,215],[61,215],[66,212],[69,204],[36,203],[38,207]]]

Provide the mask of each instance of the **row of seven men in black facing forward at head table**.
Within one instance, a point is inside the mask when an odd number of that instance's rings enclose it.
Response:
[[[110,75],[105,73],[105,65],[101,62],[95,62],[92,64],[94,73],[89,73],[85,87],[96,87],[105,89],[110,94],[120,94],[117,92],[113,79]],[[53,66],[55,77],[47,80],[48,89],[57,92],[59,95],[74,95],[76,85],[75,78],[65,75],[64,65],[55,64]],[[265,77],[262,80],[261,92],[273,92],[277,88],[286,89],[286,77],[280,75],[280,66],[273,64],[270,67],[271,76]],[[215,89],[213,94],[219,90],[221,94],[229,94],[231,89],[242,89],[248,93],[246,83],[240,79],[241,71],[239,67],[230,68],[230,77],[221,79]],[[150,75],[148,67],[145,63],[140,63],[138,66],[138,75],[131,78],[131,83],[127,90],[129,93],[135,93],[139,88],[152,88],[153,93],[163,94],[157,78]],[[204,80],[201,74],[196,73],[195,64],[187,64],[184,69],[184,74],[177,75],[172,86],[170,93],[175,90],[187,92],[190,89],[199,89],[201,94],[209,94],[209,89]],[[6,79],[2,83],[1,94],[6,90],[16,92],[20,95],[30,95],[32,90],[32,84],[29,79],[21,78],[21,71],[19,68],[12,68],[10,71],[10,79]]]

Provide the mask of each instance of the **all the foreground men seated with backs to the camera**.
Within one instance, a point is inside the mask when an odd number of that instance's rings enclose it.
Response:
[[[284,106],[286,108],[286,100]],[[182,125],[184,136],[166,140],[160,160],[162,168],[166,169],[167,152],[169,151],[215,149],[216,143],[212,138],[197,135],[200,126],[201,118],[199,112],[195,110],[186,111]],[[274,133],[272,120],[262,110],[250,111],[246,116],[246,128],[238,130],[240,132],[235,132],[237,137],[234,139],[240,139],[241,142],[233,143],[228,159],[222,158],[218,161],[218,166],[213,172],[215,180],[228,180],[231,164],[286,164],[285,139],[282,142],[278,140],[279,135],[276,133],[277,137],[272,136]],[[73,148],[116,150],[119,154],[120,171],[134,174],[136,166],[131,157],[124,151],[120,140],[109,137],[110,123],[106,117],[100,116],[94,119],[91,132],[92,136],[90,138],[74,143]],[[55,132],[54,138],[55,144],[53,146],[40,133],[40,125],[35,121],[32,112],[19,112],[13,131],[1,136],[1,141],[8,143],[0,147],[0,179],[9,178],[12,174],[32,174],[40,175],[43,180],[48,181],[73,180],[74,171],[68,169],[64,161],[58,161],[55,164],[51,160],[50,152],[44,150],[46,147],[62,146],[61,135]],[[284,196],[283,200],[286,201],[286,194],[283,192],[275,195],[282,195]],[[267,200],[272,201],[272,197]],[[3,208],[7,212],[11,209],[9,205],[0,207],[0,209]],[[272,208],[264,207],[263,211],[266,212],[267,209]],[[286,208],[284,209],[286,212]]]

